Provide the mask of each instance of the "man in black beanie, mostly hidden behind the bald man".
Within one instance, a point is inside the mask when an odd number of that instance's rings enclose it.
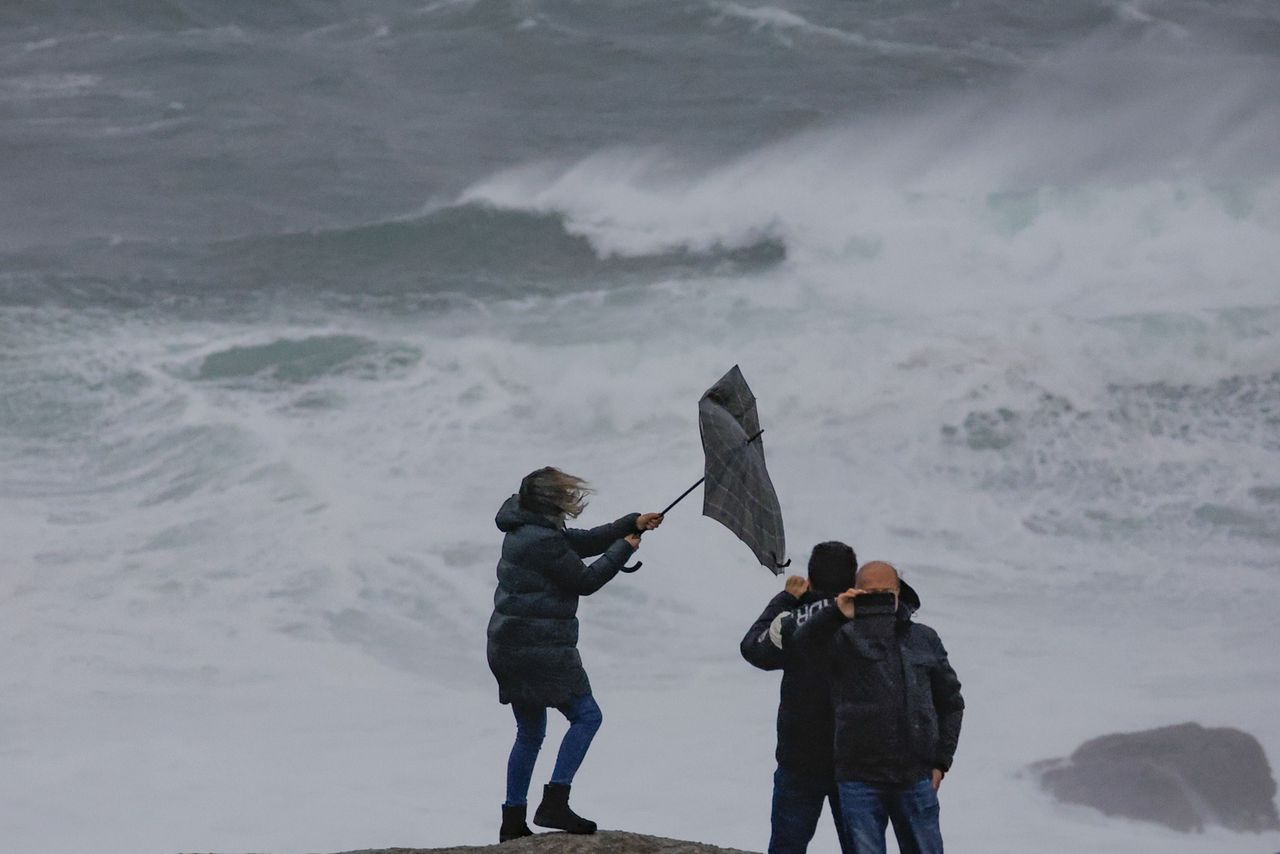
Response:
[[[854,584],[858,558],[845,543],[819,543],[809,557],[809,577],[794,575],[742,638],[742,658],[760,670],[782,671],[778,703],[778,769],[773,775],[769,854],[804,854],[831,802],[840,848],[851,854],[840,823],[832,757],[831,680],[814,654],[794,654],[788,640]]]

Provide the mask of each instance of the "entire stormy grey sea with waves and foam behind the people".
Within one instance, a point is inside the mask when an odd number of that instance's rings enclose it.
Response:
[[[1271,0],[0,5],[0,849],[497,841],[494,512],[660,508],[735,364],[794,568],[964,682],[950,846],[1280,849],[1025,773],[1280,759]],[[762,850],[781,583],[699,498],[582,603],[575,804]]]

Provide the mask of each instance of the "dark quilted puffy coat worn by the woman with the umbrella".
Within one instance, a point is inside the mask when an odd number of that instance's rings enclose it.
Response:
[[[577,598],[603,588],[635,551],[639,513],[575,530],[512,495],[494,520],[506,534],[489,618],[489,670],[498,700],[556,707],[591,693],[577,653]],[[590,566],[584,557],[602,554]]]

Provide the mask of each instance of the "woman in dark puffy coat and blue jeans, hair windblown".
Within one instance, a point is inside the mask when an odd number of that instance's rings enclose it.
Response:
[[[489,668],[498,700],[516,716],[516,743],[507,761],[507,800],[499,840],[530,836],[529,784],[547,735],[547,709],[568,722],[550,782],[534,823],[571,834],[594,834],[595,822],[568,805],[573,775],[600,729],[600,707],[577,652],[577,600],[626,568],[640,534],[662,524],[660,513],[630,513],[577,530],[566,528],[586,507],[590,488],[558,469],[539,469],[520,484],[494,520],[506,534],[498,561],[498,589],[489,620]],[[598,557],[590,565],[582,558]]]

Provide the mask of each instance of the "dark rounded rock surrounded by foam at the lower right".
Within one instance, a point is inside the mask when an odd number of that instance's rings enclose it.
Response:
[[[1271,766],[1258,740],[1240,730],[1180,723],[1105,735],[1030,769],[1059,800],[1107,816],[1183,832],[1206,825],[1280,830]]]

